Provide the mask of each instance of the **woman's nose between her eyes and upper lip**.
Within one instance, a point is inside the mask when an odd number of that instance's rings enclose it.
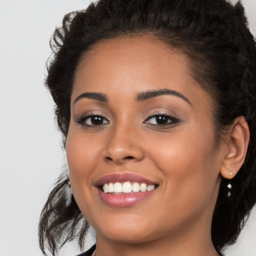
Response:
[[[105,161],[123,164],[130,161],[140,161],[143,157],[141,140],[134,128],[118,126],[109,131],[103,150]]]

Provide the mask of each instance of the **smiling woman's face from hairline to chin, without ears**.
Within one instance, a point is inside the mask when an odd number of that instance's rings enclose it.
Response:
[[[187,61],[144,36],[101,41],[79,63],[66,156],[97,237],[142,242],[210,230],[221,146],[211,98]]]

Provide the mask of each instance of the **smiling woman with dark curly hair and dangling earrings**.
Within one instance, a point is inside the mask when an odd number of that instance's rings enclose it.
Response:
[[[90,224],[96,250],[81,255],[220,255],[256,199],[241,4],[100,0],[67,14],[51,47],[69,174],[41,213],[43,253],[75,237],[82,249]]]

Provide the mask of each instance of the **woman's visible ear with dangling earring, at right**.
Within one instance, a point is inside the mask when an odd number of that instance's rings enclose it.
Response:
[[[249,127],[243,116],[236,117],[228,132],[227,151],[225,152],[220,174],[224,178],[232,178],[242,166],[249,143]]]

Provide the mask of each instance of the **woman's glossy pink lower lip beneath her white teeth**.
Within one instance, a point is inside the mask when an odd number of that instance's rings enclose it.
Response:
[[[133,193],[121,193],[121,194],[111,194],[111,193],[104,193],[100,189],[99,197],[103,202],[110,206],[114,207],[126,207],[133,204],[136,204],[142,200],[148,198],[152,193],[156,190],[150,190],[145,192],[133,192]]]

